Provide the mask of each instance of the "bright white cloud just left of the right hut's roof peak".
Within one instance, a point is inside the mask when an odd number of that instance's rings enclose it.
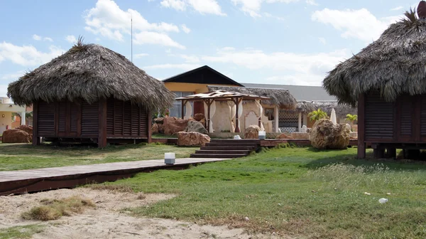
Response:
[[[311,18],[312,21],[329,24],[338,31],[342,31],[343,38],[358,38],[371,42],[381,36],[381,33],[401,16],[376,18],[367,9],[343,11],[323,9],[315,11]]]

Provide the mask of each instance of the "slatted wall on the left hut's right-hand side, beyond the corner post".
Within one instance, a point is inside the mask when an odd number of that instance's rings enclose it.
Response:
[[[107,100],[107,137],[148,138],[148,113],[130,101]]]

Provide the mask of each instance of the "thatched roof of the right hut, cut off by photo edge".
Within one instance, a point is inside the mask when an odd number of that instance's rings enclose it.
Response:
[[[380,92],[387,101],[426,93],[426,20],[406,12],[377,41],[337,65],[323,85],[339,102],[354,105],[360,94]]]

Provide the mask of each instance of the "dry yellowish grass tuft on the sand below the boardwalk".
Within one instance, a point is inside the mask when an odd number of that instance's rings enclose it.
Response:
[[[85,208],[94,207],[94,203],[85,198],[72,196],[63,199],[43,199],[42,206],[35,206],[22,214],[26,220],[50,221],[62,216],[71,216],[72,213],[82,213]]]

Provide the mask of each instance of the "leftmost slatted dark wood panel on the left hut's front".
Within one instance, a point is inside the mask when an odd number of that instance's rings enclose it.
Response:
[[[55,104],[38,102],[38,136],[52,136],[55,134]]]

